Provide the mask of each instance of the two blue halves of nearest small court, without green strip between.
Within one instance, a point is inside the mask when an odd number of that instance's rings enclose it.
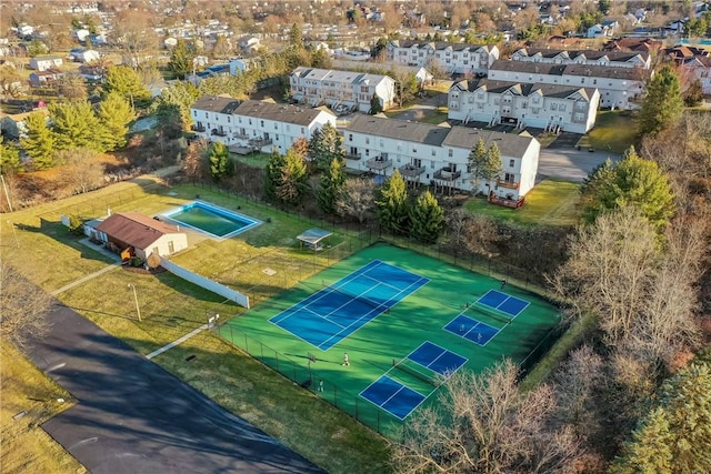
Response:
[[[468,361],[444,347],[432,344],[429,341],[423,342],[418,349],[412,351],[405,359],[417,362],[438,374],[449,377],[457,372]],[[392,370],[392,369],[391,369]],[[360,393],[360,396],[369,402],[380,406],[385,412],[395,416],[398,420],[404,420],[410,413],[422,402],[424,402],[434,391],[435,386],[428,394],[419,393],[409,386],[388,376],[388,371],[381,375],[375,382],[371,383]]]

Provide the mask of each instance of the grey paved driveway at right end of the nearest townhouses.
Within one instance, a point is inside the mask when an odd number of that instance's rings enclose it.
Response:
[[[564,181],[584,180],[590,171],[607,159],[619,160],[620,155],[603,151],[589,152],[574,148],[541,149],[538,162],[538,179],[555,178]]]

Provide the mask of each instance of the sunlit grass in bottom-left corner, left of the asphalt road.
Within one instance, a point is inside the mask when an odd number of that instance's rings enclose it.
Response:
[[[40,427],[72,406],[69,393],[4,341],[0,342],[0,471],[3,474],[86,473],[87,470]],[[27,414],[13,420],[21,412]]]

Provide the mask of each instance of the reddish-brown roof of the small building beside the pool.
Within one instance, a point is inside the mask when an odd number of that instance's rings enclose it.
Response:
[[[97,230],[137,249],[147,249],[161,236],[180,232],[173,225],[138,212],[121,212],[109,215],[97,225]]]

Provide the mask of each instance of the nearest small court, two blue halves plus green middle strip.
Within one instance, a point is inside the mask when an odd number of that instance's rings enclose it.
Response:
[[[404,420],[465,363],[467,357],[425,341],[403,361],[393,363],[392,369],[368,385],[360,396],[398,420]],[[398,371],[427,382],[432,385],[431,390],[420,393],[408,386],[398,380],[402,377]]]

